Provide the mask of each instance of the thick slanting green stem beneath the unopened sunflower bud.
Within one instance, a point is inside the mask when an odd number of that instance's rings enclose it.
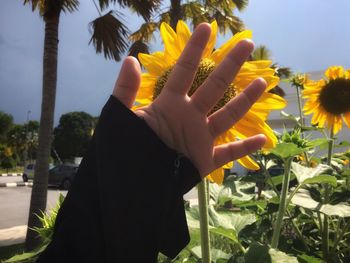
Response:
[[[291,164],[292,164],[292,158],[288,158],[287,160],[284,161],[284,177],[283,177],[283,184],[282,184],[282,192],[281,192],[280,205],[278,209],[275,229],[272,235],[272,241],[271,241],[272,248],[278,247],[278,241],[281,234],[283,216],[286,211],[286,205],[287,205],[286,200],[287,200],[287,194],[288,194],[288,188],[289,188]]]

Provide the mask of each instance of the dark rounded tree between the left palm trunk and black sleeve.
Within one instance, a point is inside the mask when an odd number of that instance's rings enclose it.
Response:
[[[53,147],[61,159],[83,156],[94,129],[94,118],[85,112],[63,114],[54,130]]]

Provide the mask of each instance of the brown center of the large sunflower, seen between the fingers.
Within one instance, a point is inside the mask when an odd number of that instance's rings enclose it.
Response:
[[[204,58],[200,61],[196,75],[194,77],[192,86],[188,91],[188,96],[192,96],[192,94],[202,85],[202,83],[206,80],[211,72],[215,69],[215,63],[207,58]],[[163,75],[161,75],[155,84],[155,88],[153,91],[153,100],[155,100],[167,82],[173,67],[166,70]],[[236,95],[236,90],[233,84],[230,84],[226,89],[224,96],[220,99],[220,101],[213,107],[210,114],[222,108],[227,102],[229,102]]]

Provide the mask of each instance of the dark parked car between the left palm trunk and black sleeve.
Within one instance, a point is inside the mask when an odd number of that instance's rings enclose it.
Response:
[[[59,164],[49,171],[49,185],[62,187],[68,190],[78,171],[77,164]]]

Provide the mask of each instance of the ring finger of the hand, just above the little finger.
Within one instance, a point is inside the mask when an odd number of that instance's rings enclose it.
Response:
[[[266,89],[262,78],[254,80],[237,97],[209,116],[209,129],[214,138],[228,130],[246,114]]]

